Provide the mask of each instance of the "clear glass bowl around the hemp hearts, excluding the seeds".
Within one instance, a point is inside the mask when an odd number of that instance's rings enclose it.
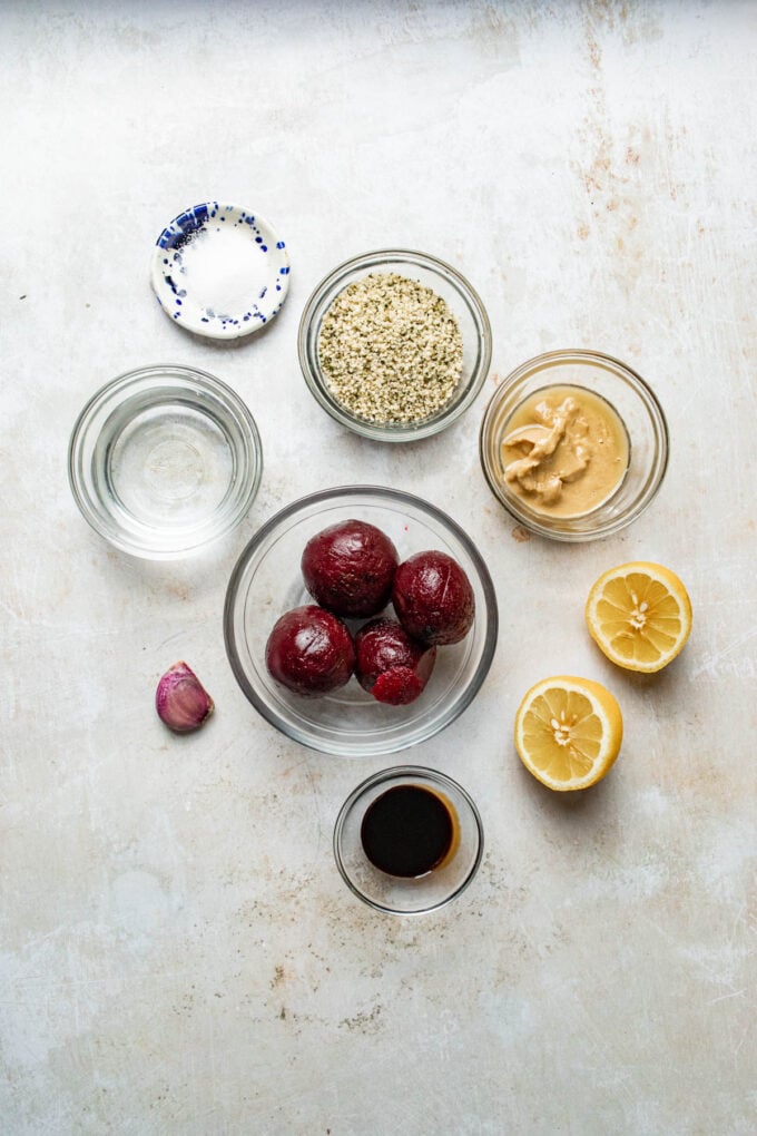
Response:
[[[323,376],[318,357],[318,337],[323,317],[347,285],[369,273],[397,273],[430,287],[446,301],[460,326],[463,340],[460,383],[449,402],[419,421],[378,424],[360,418],[334,396]],[[311,393],[338,423],[378,442],[415,442],[446,429],[471,406],[489,370],[491,328],[478,294],[455,268],[423,252],[381,249],[345,261],[321,281],[302,314],[298,350],[302,374]]]

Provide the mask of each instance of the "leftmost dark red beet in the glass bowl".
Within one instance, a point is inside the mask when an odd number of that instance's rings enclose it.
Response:
[[[350,680],[355,669],[352,635],[336,616],[316,604],[286,611],[266,644],[272,677],[304,698],[328,694]]]

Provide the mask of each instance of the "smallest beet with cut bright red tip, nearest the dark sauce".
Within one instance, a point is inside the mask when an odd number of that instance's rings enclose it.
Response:
[[[372,619],[355,635],[355,674],[379,702],[406,705],[423,692],[436,648],[418,643],[396,619]]]

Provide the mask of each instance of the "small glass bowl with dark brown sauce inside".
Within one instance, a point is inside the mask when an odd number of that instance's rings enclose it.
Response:
[[[397,766],[373,774],[342,805],[334,855],[347,887],[392,914],[423,914],[468,887],[483,853],[470,795],[444,774]]]

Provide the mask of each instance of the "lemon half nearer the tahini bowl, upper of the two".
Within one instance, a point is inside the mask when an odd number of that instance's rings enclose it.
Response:
[[[691,601],[675,573],[646,560],[603,573],[586,604],[589,634],[607,658],[651,674],[681,651],[691,632]]]

